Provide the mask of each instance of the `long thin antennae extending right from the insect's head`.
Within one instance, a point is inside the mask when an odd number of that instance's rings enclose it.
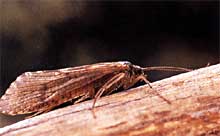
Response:
[[[192,71],[192,69],[182,68],[182,67],[172,67],[172,66],[156,66],[156,67],[145,67],[144,72],[147,71]]]

